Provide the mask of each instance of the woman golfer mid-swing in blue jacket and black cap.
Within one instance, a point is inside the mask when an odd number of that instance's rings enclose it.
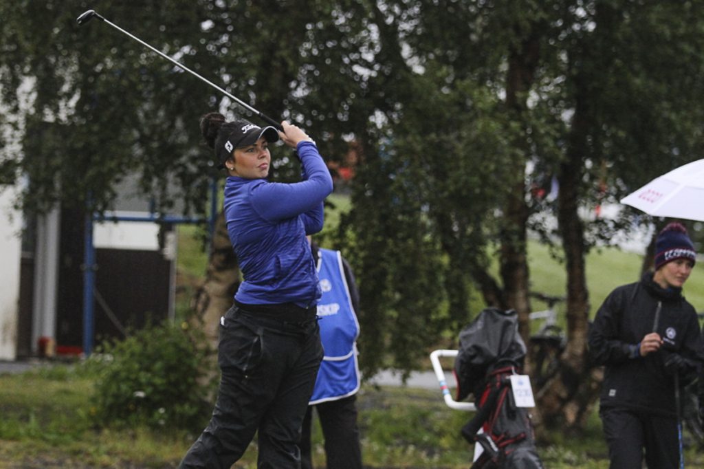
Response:
[[[244,277],[220,318],[218,401],[181,468],[230,468],[258,432],[258,468],[299,468],[298,440],[322,359],[318,275],[306,235],[322,229],[332,178],[303,130],[201,118],[201,132],[227,170],[225,222]],[[296,149],[303,180],[268,182],[268,145]]]

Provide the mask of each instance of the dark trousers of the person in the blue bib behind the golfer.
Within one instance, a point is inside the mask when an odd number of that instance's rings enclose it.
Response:
[[[313,469],[310,459],[310,423],[313,407],[320,418],[329,469],[362,469],[362,451],[357,427],[356,395],[309,406],[301,433],[301,468]]]

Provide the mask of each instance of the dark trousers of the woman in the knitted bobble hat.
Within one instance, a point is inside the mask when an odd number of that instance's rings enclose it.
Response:
[[[679,468],[677,418],[622,408],[599,411],[611,469],[641,469],[643,450],[649,469]]]

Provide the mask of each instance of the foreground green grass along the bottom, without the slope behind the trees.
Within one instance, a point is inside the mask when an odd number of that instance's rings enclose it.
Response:
[[[197,434],[115,430],[92,425],[92,378],[77,365],[0,375],[0,468],[175,468]],[[367,468],[466,469],[473,446],[459,429],[471,414],[448,408],[439,391],[364,385],[358,394],[363,460]],[[598,416],[584,433],[542,435],[546,468],[608,468]],[[236,465],[256,468],[251,444]],[[313,420],[313,461],[325,465],[318,419]],[[687,467],[704,454],[687,449]]]

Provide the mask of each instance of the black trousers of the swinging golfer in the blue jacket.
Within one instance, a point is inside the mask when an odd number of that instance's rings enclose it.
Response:
[[[298,469],[298,442],[322,360],[315,308],[263,315],[234,306],[220,323],[218,401],[180,468],[230,469],[258,434],[258,468]],[[296,317],[298,315],[298,317]]]

